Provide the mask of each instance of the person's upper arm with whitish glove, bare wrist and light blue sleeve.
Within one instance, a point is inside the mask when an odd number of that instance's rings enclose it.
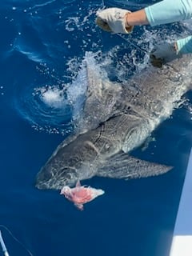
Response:
[[[192,18],[192,0],[163,0],[134,12],[108,8],[98,11],[97,16],[96,22],[103,30],[126,34],[135,25],[156,26]]]

